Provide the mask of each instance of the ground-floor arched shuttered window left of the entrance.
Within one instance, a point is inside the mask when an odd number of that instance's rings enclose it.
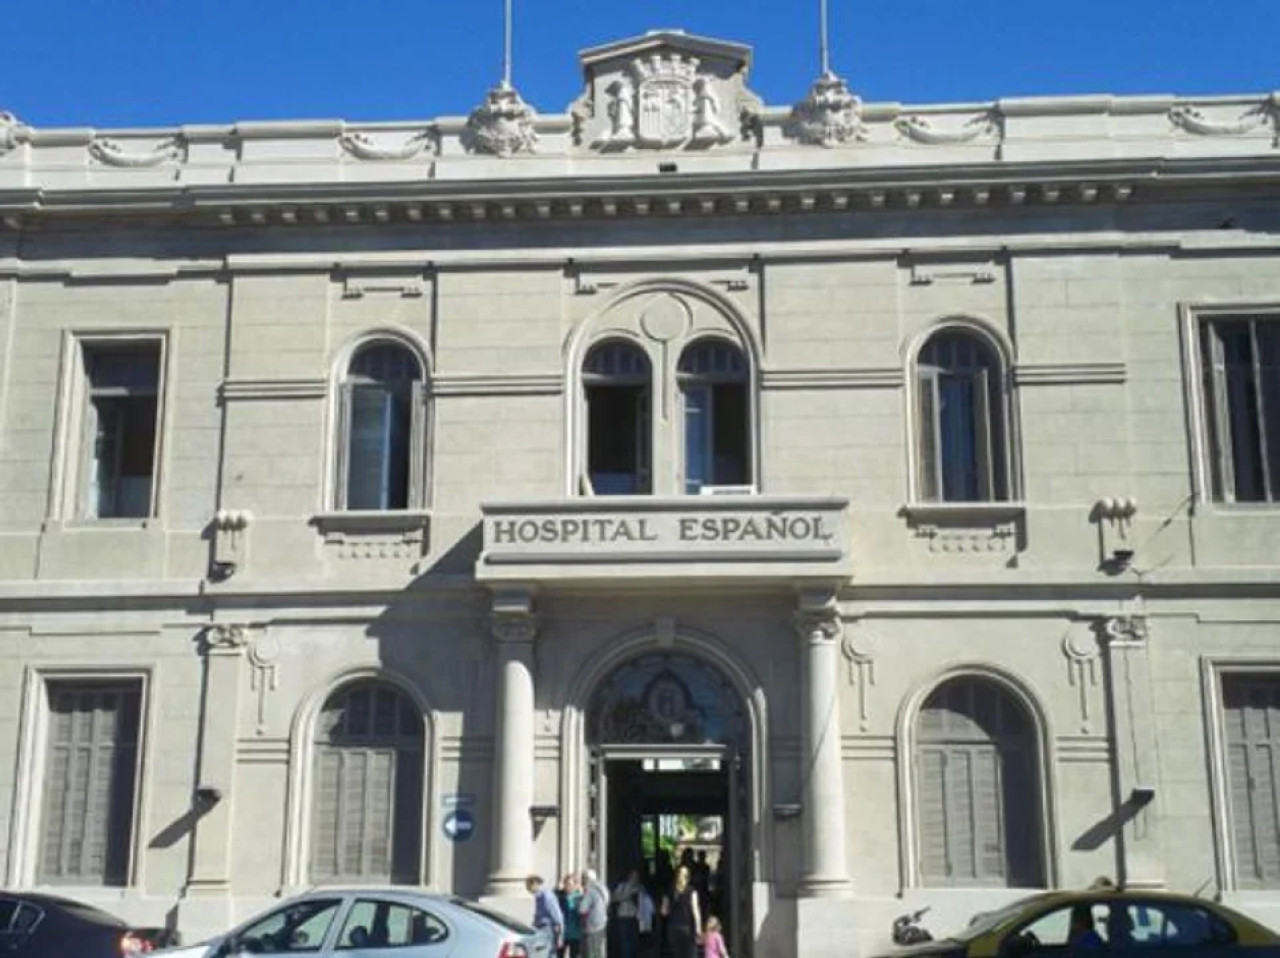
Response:
[[[416,884],[421,872],[422,716],[390,685],[333,693],[316,721],[311,881]]]

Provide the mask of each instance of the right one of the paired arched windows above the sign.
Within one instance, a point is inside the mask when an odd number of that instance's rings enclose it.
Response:
[[[751,484],[750,400],[742,351],[701,339],[680,356],[685,410],[685,492]]]

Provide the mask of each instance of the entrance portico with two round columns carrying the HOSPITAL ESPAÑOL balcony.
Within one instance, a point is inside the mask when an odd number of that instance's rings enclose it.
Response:
[[[736,953],[768,953],[758,945],[771,913],[799,898],[847,897],[835,601],[847,579],[846,510],[842,499],[730,496],[484,507],[476,575],[492,593],[499,681],[489,894],[521,895],[535,858],[548,873],[591,866],[614,882],[636,858],[644,816],[701,811],[723,822],[717,905]],[[764,671],[748,665],[745,638],[673,611],[694,603],[723,620],[744,597],[774,610],[755,649]],[[602,602],[612,638],[585,662],[561,662],[572,638],[559,620]],[[777,684],[780,671],[799,681]],[[795,713],[771,720],[774,698]],[[536,784],[547,745],[535,730],[556,713],[549,792]],[[799,733],[794,768],[772,754],[780,727]],[[780,770],[787,784],[776,794]],[[776,832],[790,840],[785,809],[797,804],[801,853],[780,879]],[[549,817],[554,865],[535,829]],[[773,917],[774,930],[792,925]]]

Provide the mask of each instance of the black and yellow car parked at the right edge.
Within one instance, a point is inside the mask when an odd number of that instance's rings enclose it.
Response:
[[[922,913],[895,922],[897,941],[919,941]],[[916,929],[910,934],[909,929]],[[969,927],[948,938],[910,944],[893,958],[995,958],[1093,949],[1132,949],[1132,954],[1233,953],[1280,955],[1280,935],[1239,912],[1202,898],[1121,888],[1046,891],[974,916]]]

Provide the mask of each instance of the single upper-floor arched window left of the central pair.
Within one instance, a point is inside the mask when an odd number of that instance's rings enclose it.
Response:
[[[339,508],[420,507],[426,416],[417,356],[397,343],[362,346],[340,402]]]

